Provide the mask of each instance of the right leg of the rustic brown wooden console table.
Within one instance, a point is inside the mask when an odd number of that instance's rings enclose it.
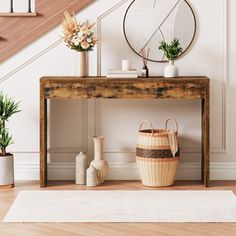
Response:
[[[205,187],[209,186],[210,175],[210,96],[207,86],[206,97],[202,99],[202,173]]]

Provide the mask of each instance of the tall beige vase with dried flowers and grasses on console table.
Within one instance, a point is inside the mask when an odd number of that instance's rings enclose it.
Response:
[[[86,77],[88,76],[88,52],[93,51],[98,42],[98,37],[92,30],[95,24],[90,24],[89,21],[78,22],[75,15],[71,16],[68,12],[65,12],[64,16],[62,23],[64,42],[68,48],[78,52],[78,76]]]

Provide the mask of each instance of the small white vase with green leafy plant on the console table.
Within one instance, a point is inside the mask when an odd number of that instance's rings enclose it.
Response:
[[[169,61],[169,65],[165,67],[164,77],[177,77],[179,75],[178,67],[174,64],[174,60],[183,52],[179,40],[174,39],[169,44],[162,41],[159,50],[164,52],[165,58]]]

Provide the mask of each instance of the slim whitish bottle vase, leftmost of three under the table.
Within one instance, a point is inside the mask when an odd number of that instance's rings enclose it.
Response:
[[[88,158],[80,152],[75,158],[75,183],[86,184],[86,170],[88,168]]]

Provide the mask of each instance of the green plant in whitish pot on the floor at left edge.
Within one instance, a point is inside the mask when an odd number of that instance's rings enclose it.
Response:
[[[19,103],[0,93],[0,188],[14,187],[14,157],[7,152],[12,135],[6,128],[9,118],[19,112]]]

